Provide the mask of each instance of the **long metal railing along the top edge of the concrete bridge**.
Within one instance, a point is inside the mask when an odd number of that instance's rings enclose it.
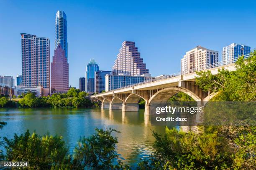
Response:
[[[248,55],[244,55],[243,57],[244,57],[244,59],[246,59],[250,56],[251,56],[251,54],[248,54]],[[177,72],[177,73],[174,73],[174,74],[171,74],[171,75],[160,75],[160,76],[157,76],[157,77],[151,77],[151,78],[149,78],[149,80],[146,80],[146,81],[143,81],[143,82],[138,82],[136,84],[132,84],[132,85],[124,86],[124,87],[120,87],[120,88],[117,88],[117,89],[114,89],[114,90],[121,90],[121,89],[124,89],[124,88],[133,87],[133,86],[136,86],[136,85],[143,85],[143,84],[146,84],[146,83],[149,83],[149,82],[156,82],[156,81],[159,81],[159,80],[165,80],[165,79],[168,79],[168,78],[177,77],[179,75],[186,75],[186,74],[189,74],[189,73],[194,73],[196,71],[202,71],[202,70],[207,70],[207,69],[210,69],[210,68],[215,68],[215,67],[228,65],[228,64],[236,62],[238,60],[238,58],[239,57],[232,58],[231,60],[224,60],[224,61],[222,60],[222,61],[215,62],[215,63],[209,64],[209,65],[203,66],[203,67],[197,67],[195,69],[191,69],[191,70],[188,70],[186,72]],[[114,90],[109,90],[108,92],[112,92]],[[102,92],[102,93],[105,93],[105,92]]]

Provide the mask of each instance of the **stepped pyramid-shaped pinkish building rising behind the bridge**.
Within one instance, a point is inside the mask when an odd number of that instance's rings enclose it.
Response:
[[[138,47],[135,47],[135,42],[124,41],[122,43],[112,70],[113,74],[116,75],[143,75],[148,73],[146,64],[143,63],[143,58],[141,58],[141,53],[138,52]]]

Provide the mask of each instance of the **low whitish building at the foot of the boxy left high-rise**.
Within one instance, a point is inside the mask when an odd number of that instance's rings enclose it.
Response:
[[[36,87],[16,87],[14,89],[14,95],[18,97],[19,95],[22,95],[22,93],[26,94],[27,92],[33,92],[35,93],[36,97],[41,97],[44,95],[44,88],[41,86]]]

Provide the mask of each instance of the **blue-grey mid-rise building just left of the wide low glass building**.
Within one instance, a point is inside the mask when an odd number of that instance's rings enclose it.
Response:
[[[105,75],[110,74],[111,71],[95,71],[95,93],[100,93],[105,90]]]

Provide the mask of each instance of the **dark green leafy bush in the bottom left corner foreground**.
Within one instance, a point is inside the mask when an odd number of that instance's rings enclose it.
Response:
[[[49,170],[52,167],[70,164],[68,149],[58,136],[14,135],[14,139],[4,138],[6,142],[6,158],[8,161],[28,161],[30,169]]]

